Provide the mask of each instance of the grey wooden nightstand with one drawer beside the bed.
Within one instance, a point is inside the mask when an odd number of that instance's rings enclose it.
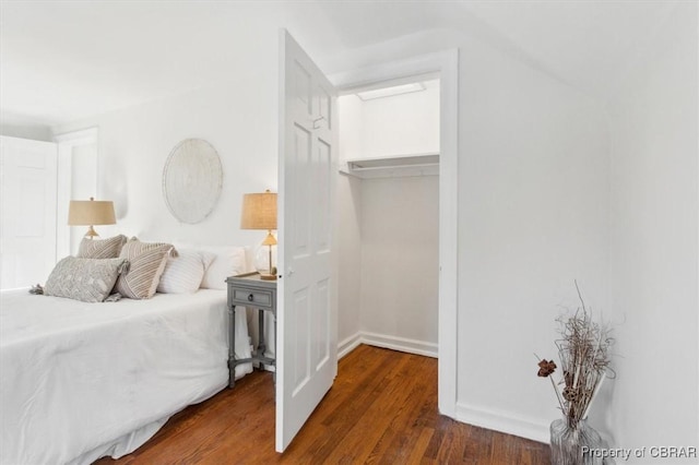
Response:
[[[228,388],[235,385],[235,368],[240,363],[258,361],[261,366],[275,366],[275,360],[264,356],[266,344],[264,342],[264,312],[272,313],[274,319],[274,338],[276,342],[276,281],[263,281],[258,273],[247,273],[230,276],[228,284]],[[237,306],[249,307],[258,310],[259,342],[258,347],[250,358],[236,358],[236,319]],[[276,350],[276,345],[275,345]]]

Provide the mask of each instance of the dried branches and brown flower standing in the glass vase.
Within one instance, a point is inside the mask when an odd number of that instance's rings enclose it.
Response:
[[[554,360],[542,359],[538,362],[538,375],[549,378],[558,398],[561,412],[568,420],[568,427],[574,429],[581,419],[587,418],[602,381],[614,378],[609,369],[609,347],[614,339],[609,337],[607,326],[595,323],[580,295],[581,307],[572,317],[559,317],[561,338],[556,341],[562,378],[554,381],[556,370]],[[538,357],[536,357],[538,359]]]

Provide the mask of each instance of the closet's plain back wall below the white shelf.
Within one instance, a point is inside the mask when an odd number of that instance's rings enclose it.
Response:
[[[362,184],[362,330],[436,354],[439,177]]]

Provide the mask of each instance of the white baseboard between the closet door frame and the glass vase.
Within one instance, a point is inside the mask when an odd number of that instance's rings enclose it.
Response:
[[[548,425],[518,418],[505,412],[476,408],[463,403],[457,403],[457,420],[546,444],[550,439]]]

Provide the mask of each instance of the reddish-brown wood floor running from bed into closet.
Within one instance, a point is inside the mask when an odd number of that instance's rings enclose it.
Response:
[[[362,345],[284,454],[274,452],[272,374],[256,371],[173,417],[114,464],[548,464],[548,445],[437,412],[437,360]]]

